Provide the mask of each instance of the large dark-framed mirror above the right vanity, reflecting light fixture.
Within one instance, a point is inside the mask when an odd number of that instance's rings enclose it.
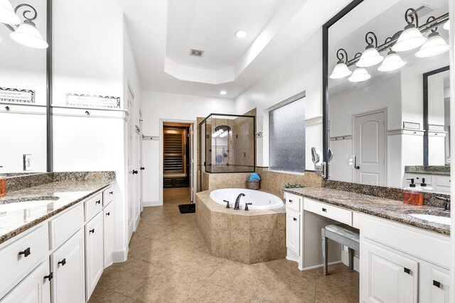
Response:
[[[448,11],[447,0],[354,1],[326,27],[331,180],[403,187],[411,172],[449,172]]]

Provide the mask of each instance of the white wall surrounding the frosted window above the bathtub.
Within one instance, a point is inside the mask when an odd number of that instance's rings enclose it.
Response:
[[[268,110],[306,91],[306,169],[314,170],[311,146],[322,150],[322,30],[311,35],[294,53],[235,99],[237,114],[257,108],[257,165],[269,166]],[[312,119],[314,118],[314,119]]]

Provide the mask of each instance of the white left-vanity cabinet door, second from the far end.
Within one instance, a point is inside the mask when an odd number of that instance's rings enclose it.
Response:
[[[111,203],[112,204],[112,203]],[[85,292],[90,299],[105,268],[102,212],[85,225]]]

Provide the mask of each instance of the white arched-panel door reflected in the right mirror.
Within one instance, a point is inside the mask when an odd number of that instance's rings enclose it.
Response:
[[[355,117],[354,182],[385,186],[385,112]]]

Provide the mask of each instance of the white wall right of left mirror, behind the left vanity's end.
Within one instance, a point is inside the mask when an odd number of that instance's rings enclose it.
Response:
[[[66,93],[80,93],[120,97],[124,107],[129,82],[137,104],[131,114],[139,120],[141,86],[119,7],[109,0],[55,1],[53,16],[53,105],[65,106]],[[119,262],[128,249],[125,113],[89,109],[87,117],[84,111],[54,108],[54,170],[116,172],[114,262]]]

